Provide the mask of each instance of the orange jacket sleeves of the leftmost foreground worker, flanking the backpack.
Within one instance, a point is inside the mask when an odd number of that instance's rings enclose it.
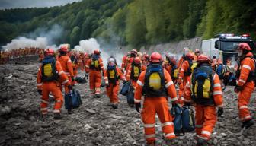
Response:
[[[40,90],[42,90],[42,88],[43,88],[42,87],[43,86],[43,81],[42,81],[41,68],[42,68],[42,65],[40,65],[40,68],[37,71],[37,89],[40,89]],[[69,78],[64,73],[64,71],[62,70],[62,66],[60,65],[60,63],[58,61],[56,61],[56,71],[58,71],[60,83],[62,83],[63,85],[68,86],[70,84],[69,83]]]

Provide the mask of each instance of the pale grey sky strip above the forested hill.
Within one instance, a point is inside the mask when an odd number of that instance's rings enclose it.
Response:
[[[78,1],[82,0],[0,0],[0,9],[52,7],[56,5],[66,5],[67,3]]]

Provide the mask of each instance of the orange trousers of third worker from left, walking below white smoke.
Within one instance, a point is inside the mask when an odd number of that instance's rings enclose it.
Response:
[[[89,78],[91,95],[101,94],[101,71],[91,69]]]

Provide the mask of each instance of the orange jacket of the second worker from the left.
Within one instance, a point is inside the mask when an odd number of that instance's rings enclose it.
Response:
[[[73,65],[69,56],[59,56],[58,61],[62,65],[62,69],[68,77],[74,77]]]

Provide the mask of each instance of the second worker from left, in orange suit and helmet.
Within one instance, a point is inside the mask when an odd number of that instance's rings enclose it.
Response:
[[[62,69],[63,69],[64,73],[68,76],[69,82],[72,83],[73,81],[75,81],[75,79],[74,79],[72,61],[70,60],[69,56],[67,55],[67,53],[69,52],[68,47],[69,47],[68,45],[60,46],[59,57],[57,60],[62,65]],[[69,92],[70,92],[70,90],[67,87],[65,87],[65,94],[69,94]]]

